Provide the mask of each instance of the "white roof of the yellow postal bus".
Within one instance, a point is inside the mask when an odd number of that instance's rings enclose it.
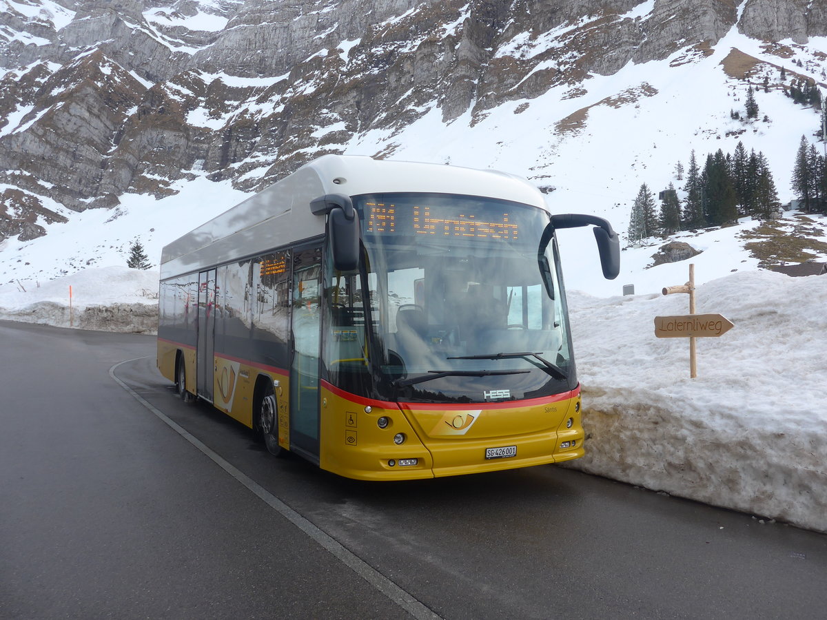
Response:
[[[165,246],[160,277],[187,274],[322,235],[310,202],[328,193],[454,193],[546,208],[538,188],[496,170],[324,155]]]

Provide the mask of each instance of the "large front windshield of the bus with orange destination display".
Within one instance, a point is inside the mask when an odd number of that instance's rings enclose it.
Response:
[[[410,403],[539,398],[576,387],[549,222],[493,198],[354,197],[361,274],[327,266],[324,357],[342,389]],[[368,300],[364,303],[363,300]]]

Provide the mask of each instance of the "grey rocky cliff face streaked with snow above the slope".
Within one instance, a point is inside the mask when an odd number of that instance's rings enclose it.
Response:
[[[734,26],[801,43],[823,0],[0,0],[0,241],[208,174],[262,188],[367,131],[478,122]]]

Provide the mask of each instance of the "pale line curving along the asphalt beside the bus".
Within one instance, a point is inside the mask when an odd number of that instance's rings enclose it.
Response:
[[[226,471],[227,474],[237,479],[238,482],[246,486],[247,489],[250,489],[253,494],[256,494],[259,498],[261,498],[261,500],[267,503],[270,508],[273,508],[277,513],[280,513],[282,517],[286,518],[289,522],[293,523],[295,527],[298,527],[302,532],[307,534],[308,537],[311,537],[319,545],[327,549],[327,551],[341,560],[342,563],[350,570],[355,572],[356,575],[359,575],[362,579],[365,579],[375,589],[378,589],[382,594],[385,594],[386,597],[399,605],[399,607],[411,614],[411,616],[417,618],[417,620],[442,620],[441,616],[437,616],[436,613],[433,613],[433,611],[416,599],[413,594],[410,594],[400,588],[397,584],[394,584],[394,582],[385,577],[385,575],[382,575],[378,570],[375,570],[375,568],[368,565],[364,560],[361,560],[359,556],[356,556],[352,551],[349,551],[345,546],[342,546],[342,543],[338,542],[329,534],[323,532],[317,526],[313,525],[312,522],[309,522],[306,518],[302,517],[293,508],[290,508],[286,503],[271,494],[267,489],[262,487],[261,484],[258,484],[255,480],[244,474],[237,467],[228,463],[227,460],[222,459],[222,457],[219,456],[217,452],[213,451],[212,448],[204,445],[202,441],[190,434],[189,431],[184,429],[184,427],[181,427],[177,422],[174,422],[170,419],[170,417],[167,417],[165,413],[160,411],[160,409],[155,408],[155,406],[149,403],[146,398],[143,398],[141,394],[137,393],[134,389],[131,389],[131,387],[115,376],[115,370],[118,366],[128,364],[133,361],[146,360],[147,357],[149,356],[136,357],[134,360],[124,360],[119,362],[109,369],[109,376],[112,377],[112,379],[114,379],[115,382],[123,389],[127,390],[131,397],[135,398],[138,403],[141,403],[145,408],[149,409],[152,413],[155,413],[155,416],[158,417],[161,422],[164,422],[167,426],[172,428],[174,432],[177,432],[180,436],[184,437],[184,439],[189,441],[189,443],[212,459],[216,465],[222,468],[222,470]]]

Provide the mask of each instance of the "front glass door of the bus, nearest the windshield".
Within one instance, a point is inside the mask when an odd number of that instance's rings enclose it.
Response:
[[[293,258],[293,359],[290,363],[290,448],[318,460],[318,358],[321,331],[322,248]]]

